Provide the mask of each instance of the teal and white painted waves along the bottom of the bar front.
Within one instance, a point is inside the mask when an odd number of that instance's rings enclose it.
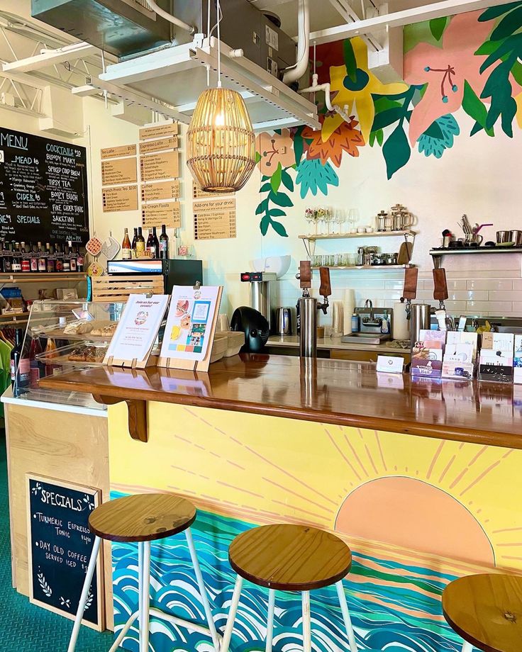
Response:
[[[111,498],[120,498],[113,492]],[[191,527],[201,571],[209,592],[214,621],[225,629],[235,573],[228,563],[228,546],[235,536],[254,524],[198,512]],[[440,616],[440,595],[448,575],[431,568],[402,566],[389,560],[353,553],[352,573],[345,592],[360,651],[460,652],[462,641]],[[116,633],[138,607],[138,550],[135,544],[113,544],[113,591]],[[357,577],[357,581],[350,581]],[[191,622],[205,624],[194,570],[184,534],[151,546],[151,606]],[[387,582],[389,578],[389,582]],[[393,582],[393,584],[392,584]],[[397,583],[401,583],[399,587]],[[346,652],[335,588],[311,592],[313,652]],[[231,652],[265,649],[267,590],[245,582]],[[138,633],[130,629],[123,648],[138,652]],[[276,593],[275,652],[301,652],[301,596]],[[160,619],[150,625],[153,652],[211,652],[211,639]]]

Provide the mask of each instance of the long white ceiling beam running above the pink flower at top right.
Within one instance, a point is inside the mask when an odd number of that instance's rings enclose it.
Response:
[[[430,21],[432,18],[443,16],[455,16],[457,13],[487,9],[488,7],[501,4],[508,4],[511,0],[442,0],[433,4],[426,4],[404,11],[394,11],[385,16],[367,18],[355,23],[347,23],[331,27],[326,30],[318,30],[310,34],[310,41],[319,45],[321,43],[332,43],[336,40],[353,38],[354,36],[371,35],[373,30],[384,27],[400,27],[412,23]]]

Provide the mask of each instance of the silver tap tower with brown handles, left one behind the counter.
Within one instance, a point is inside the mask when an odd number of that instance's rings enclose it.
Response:
[[[317,311],[322,310],[326,315],[329,305],[328,297],[332,293],[330,269],[328,267],[320,267],[319,275],[321,277],[319,294],[323,297],[323,303],[319,303],[316,298],[310,296],[310,288],[312,286],[311,263],[309,260],[301,260],[299,274],[296,274],[296,279],[299,279],[299,285],[303,291],[303,296],[299,298],[297,303],[301,323],[301,334],[299,337],[299,354],[301,358],[317,357]]]

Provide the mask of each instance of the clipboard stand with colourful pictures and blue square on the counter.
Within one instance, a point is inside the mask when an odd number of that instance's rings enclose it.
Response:
[[[158,366],[208,371],[222,286],[174,286]]]

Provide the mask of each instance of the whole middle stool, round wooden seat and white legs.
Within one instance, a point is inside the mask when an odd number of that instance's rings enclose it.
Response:
[[[236,536],[228,559],[238,574],[221,652],[228,652],[243,578],[268,588],[266,651],[272,650],[276,591],[299,591],[303,609],[303,649],[311,651],[310,591],[335,584],[348,634],[350,651],[357,652],[343,578],[352,566],[350,548],[338,536],[303,525],[264,525]]]

